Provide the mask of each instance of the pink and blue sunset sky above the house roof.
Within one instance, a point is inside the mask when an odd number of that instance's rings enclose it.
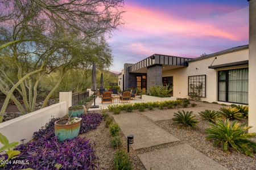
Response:
[[[246,0],[127,0],[125,11],[109,39],[115,73],[155,53],[195,58],[248,44]]]

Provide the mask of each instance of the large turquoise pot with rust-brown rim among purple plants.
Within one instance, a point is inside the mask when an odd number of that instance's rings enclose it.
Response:
[[[54,123],[55,136],[58,137],[59,141],[73,139],[79,135],[82,118],[72,116],[73,114],[71,113],[68,118],[57,120]]]

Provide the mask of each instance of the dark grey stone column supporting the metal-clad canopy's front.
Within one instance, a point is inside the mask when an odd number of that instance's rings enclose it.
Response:
[[[147,92],[150,92],[151,86],[162,85],[162,72],[162,65],[147,67]]]

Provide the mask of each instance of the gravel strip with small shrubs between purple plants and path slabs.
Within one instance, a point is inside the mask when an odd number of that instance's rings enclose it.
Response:
[[[122,131],[119,133],[122,142],[123,150],[127,151],[126,137],[123,135]],[[90,139],[90,142],[94,145],[96,156],[98,156],[98,161],[100,163],[100,169],[113,169],[113,158],[117,148],[112,148],[110,146],[110,133],[109,128],[105,128],[105,121],[102,121],[101,124],[95,130],[91,130],[88,133],[81,134],[81,137],[86,137]],[[130,147],[129,156],[133,162],[133,169],[145,169],[141,160],[137,156],[137,152]]]

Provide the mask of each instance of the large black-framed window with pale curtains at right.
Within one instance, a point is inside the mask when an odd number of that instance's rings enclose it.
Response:
[[[248,103],[248,68],[218,71],[218,101]]]

